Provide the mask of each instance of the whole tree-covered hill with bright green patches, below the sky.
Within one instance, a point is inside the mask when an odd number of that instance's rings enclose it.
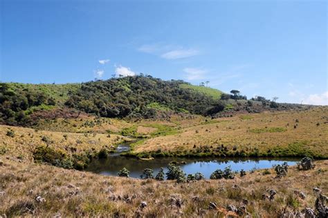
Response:
[[[80,112],[99,117],[149,119],[173,113],[217,117],[241,110],[261,112],[300,107],[264,97],[247,100],[238,90],[227,94],[204,85],[144,75],[86,83],[0,83],[0,104],[0,123],[14,126],[28,126],[36,116],[78,117]]]

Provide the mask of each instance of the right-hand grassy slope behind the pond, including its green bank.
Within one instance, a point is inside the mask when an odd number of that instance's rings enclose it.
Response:
[[[320,107],[211,119],[183,126],[175,135],[147,139],[132,153],[328,158],[327,114],[328,107]]]

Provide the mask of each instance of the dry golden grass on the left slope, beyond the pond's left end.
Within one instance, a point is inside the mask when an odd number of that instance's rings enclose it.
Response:
[[[8,136],[8,130],[12,130],[15,136]],[[48,145],[64,153],[72,152],[71,148],[75,148],[76,153],[87,150],[97,152],[102,148],[111,150],[125,140],[131,139],[121,135],[36,131],[31,128],[0,125],[0,157],[30,162],[33,161],[33,151],[39,146]]]

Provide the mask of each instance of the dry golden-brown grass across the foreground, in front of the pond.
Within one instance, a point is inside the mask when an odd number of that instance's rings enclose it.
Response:
[[[309,171],[289,168],[282,179],[275,179],[273,170],[271,175],[258,170],[243,178],[187,184],[106,177],[8,159],[3,162],[0,215],[7,217],[224,217],[228,204],[239,206],[245,200],[248,215],[279,217],[282,210],[313,208],[312,188],[319,187],[324,194],[328,191],[328,161],[316,161],[316,168]],[[277,191],[275,199],[262,199],[271,189]],[[294,190],[304,192],[305,199]],[[38,196],[45,201],[37,202]],[[143,209],[142,201],[147,203]],[[210,202],[217,204],[217,210],[208,208]]]

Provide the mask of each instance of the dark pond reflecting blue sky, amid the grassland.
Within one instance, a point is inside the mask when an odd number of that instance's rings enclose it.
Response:
[[[282,164],[284,161],[289,166],[295,165],[300,159],[291,158],[223,158],[223,157],[204,157],[204,158],[182,158],[182,157],[162,157],[151,160],[141,160],[134,157],[122,157],[120,152],[129,150],[129,143],[118,146],[115,153],[111,154],[107,159],[94,159],[86,168],[86,171],[95,172],[101,175],[117,176],[118,171],[127,168],[130,171],[130,177],[140,178],[145,168],[152,168],[154,175],[164,168],[171,161],[178,162],[183,171],[188,174],[201,172],[206,179],[210,178],[212,172],[217,169],[224,170],[230,166],[233,170],[252,170],[253,168],[263,169],[272,168],[275,164]]]

